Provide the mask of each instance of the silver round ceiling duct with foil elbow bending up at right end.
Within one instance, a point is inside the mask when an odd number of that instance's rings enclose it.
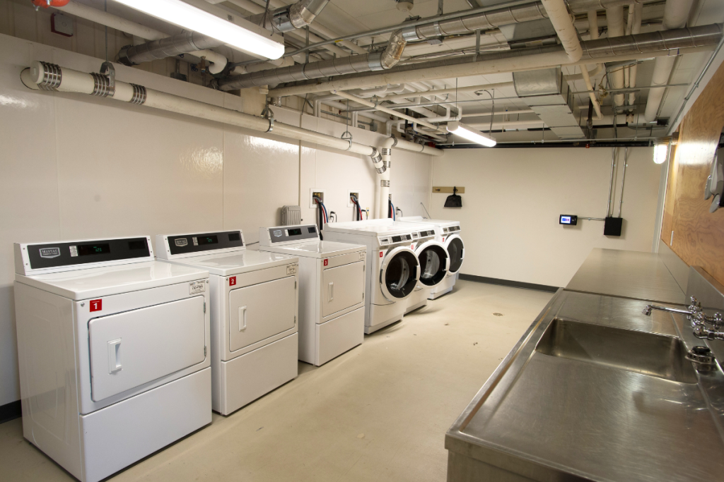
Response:
[[[407,40],[403,38],[402,31],[397,30],[390,35],[390,43],[387,44],[387,48],[382,53],[338,57],[336,59],[310,62],[309,64],[282,67],[281,69],[261,70],[252,74],[235,75],[217,80],[216,86],[221,90],[235,90],[245,87],[278,85],[283,82],[391,69],[400,61],[400,56],[402,56],[406,44]]]

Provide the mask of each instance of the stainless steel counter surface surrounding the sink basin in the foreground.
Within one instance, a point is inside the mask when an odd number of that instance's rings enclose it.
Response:
[[[445,447],[518,477],[510,480],[723,480],[719,368],[700,374],[683,366],[690,378],[676,381],[536,350],[562,320],[592,332],[632,330],[626,343],[653,336],[676,348],[681,338],[686,350],[700,344],[686,319],[646,317],[646,304],[558,291],[447,431]]]

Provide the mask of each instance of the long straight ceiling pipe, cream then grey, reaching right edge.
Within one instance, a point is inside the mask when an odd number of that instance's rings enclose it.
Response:
[[[639,33],[639,35],[631,35],[631,37],[615,41],[608,38],[588,40],[581,43],[584,52],[581,60],[576,64],[647,59],[668,55],[670,48],[679,48],[681,49],[680,53],[710,51],[719,42],[721,35],[722,26],[713,24],[689,29]],[[300,85],[285,85],[271,89],[269,95],[274,97],[304,95],[308,92],[350,90],[416,80],[518,72],[558,65],[571,65],[568,64],[568,54],[560,46],[521,48],[515,51],[485,53],[477,56],[477,58],[460,56],[412,66],[396,66],[381,74],[353,74],[340,76],[326,82],[316,81],[313,83],[305,82]]]

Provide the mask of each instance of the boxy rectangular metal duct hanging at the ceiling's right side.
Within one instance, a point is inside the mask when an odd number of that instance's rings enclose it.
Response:
[[[573,95],[563,81],[560,67],[513,72],[513,85],[518,97],[534,111],[553,134],[560,139],[585,137],[578,125]]]

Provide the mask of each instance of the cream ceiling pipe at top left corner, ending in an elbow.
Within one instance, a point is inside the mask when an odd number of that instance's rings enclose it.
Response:
[[[169,36],[167,33],[163,33],[151,27],[146,27],[146,25],[140,25],[140,23],[131,22],[123,17],[109,14],[103,10],[94,9],[93,7],[81,4],[75,0],[70,0],[66,5],[64,5],[64,7],[54,8],[59,12],[75,15],[75,17],[90,20],[90,22],[95,22],[98,25],[105,25],[106,27],[114,28],[120,32],[135,35],[136,37],[140,37],[145,40],[159,40]],[[209,72],[212,74],[222,72],[227,64],[227,58],[221,53],[206,50],[205,48],[195,49],[186,53],[198,57],[199,59],[203,57],[207,61],[212,62],[212,64],[209,65]]]

